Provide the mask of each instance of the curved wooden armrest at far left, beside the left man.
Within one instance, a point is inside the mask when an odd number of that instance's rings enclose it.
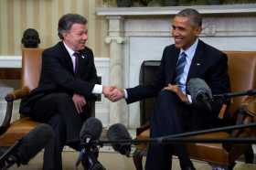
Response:
[[[5,133],[7,128],[10,126],[12,113],[13,113],[13,101],[27,96],[28,93],[29,93],[29,89],[27,87],[24,87],[19,90],[14,90],[5,96],[5,101],[7,101],[7,106],[6,106],[4,122],[0,126],[0,135],[2,133]]]

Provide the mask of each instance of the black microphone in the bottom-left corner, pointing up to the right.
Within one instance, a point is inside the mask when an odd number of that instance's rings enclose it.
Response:
[[[12,165],[27,165],[39,151],[41,151],[54,136],[52,128],[45,123],[37,125],[22,139],[7,149],[0,157],[0,169],[5,170]]]

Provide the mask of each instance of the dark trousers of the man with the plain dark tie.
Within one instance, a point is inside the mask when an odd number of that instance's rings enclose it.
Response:
[[[66,93],[51,93],[33,106],[31,117],[52,126],[55,136],[45,147],[44,170],[61,170],[61,153],[65,144],[79,149],[79,133],[86,113],[78,113],[72,96]]]

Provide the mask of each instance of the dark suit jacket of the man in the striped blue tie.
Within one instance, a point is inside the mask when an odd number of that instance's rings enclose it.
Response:
[[[168,83],[173,83],[179,52],[180,49],[176,48],[175,45],[167,46],[164,49],[160,70],[155,77],[155,81],[149,86],[140,85],[127,89],[128,99],[126,101],[131,103],[154,97]],[[187,82],[191,78],[205,80],[213,94],[229,92],[228,58],[226,54],[199,40],[187,75]],[[212,102],[211,104],[213,112],[210,112],[210,114],[217,117],[220,104],[219,102]]]

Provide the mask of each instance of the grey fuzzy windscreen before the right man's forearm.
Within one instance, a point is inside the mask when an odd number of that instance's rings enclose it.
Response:
[[[207,95],[209,99],[212,99],[212,92],[205,80],[199,78],[189,80],[187,83],[187,90],[191,95],[192,101],[197,101],[197,97],[200,94]]]

